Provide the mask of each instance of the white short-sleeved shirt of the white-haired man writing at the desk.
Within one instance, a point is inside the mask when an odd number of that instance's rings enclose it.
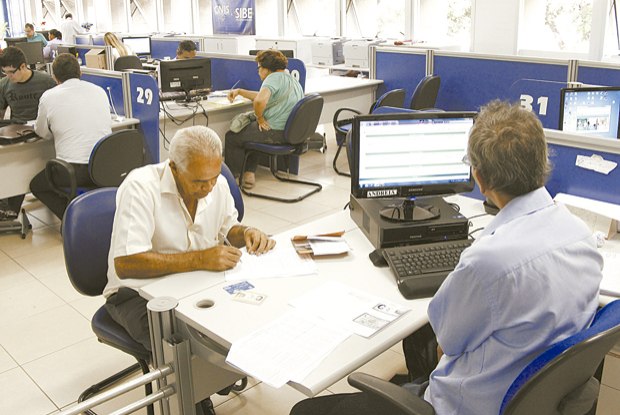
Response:
[[[120,279],[114,258],[148,251],[170,254],[208,249],[222,243],[222,235],[238,224],[224,176],[218,177],[211,193],[198,200],[192,221],[167,160],[133,170],[116,195],[108,284],[103,295],[109,297],[120,287],[137,290],[163,278]]]

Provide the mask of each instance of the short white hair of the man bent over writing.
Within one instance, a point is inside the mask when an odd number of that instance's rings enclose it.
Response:
[[[183,128],[170,141],[170,161],[187,171],[190,159],[194,157],[222,158],[222,140],[209,127]]]

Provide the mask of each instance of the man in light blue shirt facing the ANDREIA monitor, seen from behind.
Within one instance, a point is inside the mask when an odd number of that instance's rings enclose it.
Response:
[[[423,393],[438,415],[499,413],[508,387],[537,354],[591,323],[602,278],[592,232],[544,187],[547,146],[533,113],[491,102],[474,123],[467,155],[480,191],[501,210],[428,307],[441,357],[428,382],[406,388]],[[358,393],[302,401],[291,414],[381,409]]]

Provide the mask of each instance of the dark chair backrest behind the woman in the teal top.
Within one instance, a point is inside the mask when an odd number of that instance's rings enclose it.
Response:
[[[292,145],[306,142],[316,131],[322,110],[323,97],[319,94],[310,94],[299,100],[284,127],[286,142]]]

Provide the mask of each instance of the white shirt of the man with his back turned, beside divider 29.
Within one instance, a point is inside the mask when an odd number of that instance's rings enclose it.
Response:
[[[112,132],[110,104],[103,88],[77,78],[48,89],[39,100],[37,135],[53,138],[56,157],[88,164],[97,142]]]

